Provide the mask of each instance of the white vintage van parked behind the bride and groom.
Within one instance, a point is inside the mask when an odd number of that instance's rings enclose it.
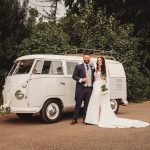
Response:
[[[96,58],[91,62],[95,65]],[[27,55],[15,60],[5,79],[1,112],[16,113],[29,118],[40,112],[46,123],[60,119],[62,112],[75,106],[75,65],[82,63],[80,56]],[[127,104],[125,71],[121,63],[106,59],[109,68],[110,101],[117,112],[119,104]]]

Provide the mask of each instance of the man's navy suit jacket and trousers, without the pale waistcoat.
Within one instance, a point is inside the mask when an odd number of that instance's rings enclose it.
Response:
[[[91,69],[91,83],[93,84],[95,69],[93,66],[90,65],[89,65],[89,69]],[[86,78],[86,69],[84,63],[76,65],[72,78],[76,80],[76,90],[75,90],[76,106],[73,114],[73,119],[75,120],[78,119],[81,104],[83,101],[84,101],[83,119],[85,119],[87,106],[91,97],[93,87],[92,84],[89,87],[88,86],[85,87],[85,82],[80,82],[82,78]]]

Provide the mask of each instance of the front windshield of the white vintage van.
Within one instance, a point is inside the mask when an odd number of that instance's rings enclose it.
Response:
[[[34,62],[33,59],[16,61],[9,75],[28,74],[31,70],[33,62]]]

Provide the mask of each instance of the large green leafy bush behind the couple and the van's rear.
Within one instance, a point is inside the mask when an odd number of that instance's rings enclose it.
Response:
[[[71,46],[115,52],[115,58],[125,67],[128,100],[150,98],[149,70],[145,66],[145,59],[141,59],[145,55],[138,50],[140,38],[134,36],[133,24],[121,25],[114,16],[108,17],[104,10],[98,9],[95,13],[90,4],[85,4],[79,15],[68,11],[60,23],[70,37]],[[147,76],[142,68],[147,70]]]

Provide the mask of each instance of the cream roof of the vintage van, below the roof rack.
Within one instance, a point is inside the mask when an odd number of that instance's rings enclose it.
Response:
[[[52,55],[52,54],[37,54],[37,55],[25,55],[17,58],[15,61],[27,60],[27,59],[55,59],[55,60],[82,60],[82,56],[75,55]],[[107,63],[119,63],[116,60],[105,59]],[[96,61],[96,58],[92,57],[91,61]]]

